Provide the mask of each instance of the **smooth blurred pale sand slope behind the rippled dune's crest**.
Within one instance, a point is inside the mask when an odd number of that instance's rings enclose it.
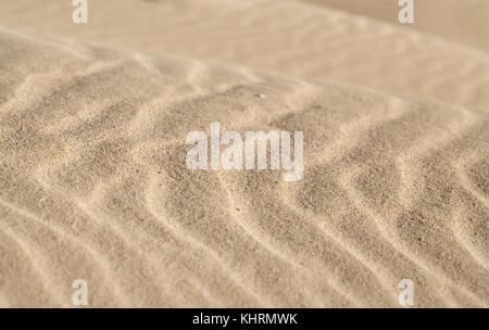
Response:
[[[459,5],[443,8],[461,8],[460,15],[481,13],[475,22],[487,25],[489,10],[473,2],[457,1]],[[356,15],[360,10],[352,14],[294,0],[130,0],[124,4],[92,0],[89,24],[80,26],[72,23],[72,7],[64,0],[0,3],[2,24],[15,29],[349,82],[465,107],[489,107],[489,54],[480,50],[489,48],[488,38],[477,41],[479,48],[466,47],[436,34]],[[381,3],[371,11],[375,9],[385,12]],[[419,21],[428,30],[436,22],[444,22],[422,20],[422,12],[434,10],[430,5],[419,11]],[[447,18],[442,26],[476,36],[488,30],[485,25],[478,30],[464,28],[462,22],[472,20],[455,18]]]

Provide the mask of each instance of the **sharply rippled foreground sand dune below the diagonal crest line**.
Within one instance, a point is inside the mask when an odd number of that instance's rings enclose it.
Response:
[[[77,278],[91,306],[398,306],[403,278],[418,306],[489,305],[487,111],[11,29],[0,45],[0,306],[70,306]],[[419,90],[489,104],[432,92],[487,84],[489,58],[461,50],[449,76],[428,48],[409,60],[439,63]],[[303,179],[188,170],[185,137],[212,122],[303,130]]]

